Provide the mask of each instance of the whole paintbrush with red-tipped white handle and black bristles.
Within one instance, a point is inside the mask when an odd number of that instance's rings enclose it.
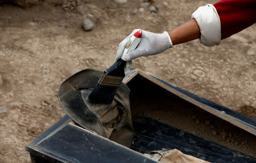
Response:
[[[123,54],[130,52],[137,48],[139,41],[141,41],[142,31],[138,30],[131,36],[128,41]],[[131,62],[131,61],[129,61]],[[102,104],[111,104],[117,88],[125,78],[125,66],[126,61],[118,59],[112,66],[104,71],[104,74],[98,80],[97,85],[93,88],[93,91],[89,95],[89,100]]]

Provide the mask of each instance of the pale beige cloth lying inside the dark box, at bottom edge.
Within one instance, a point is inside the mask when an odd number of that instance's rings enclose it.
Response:
[[[147,153],[144,153],[144,155],[163,163],[210,163],[208,161],[201,160],[200,158],[185,155],[177,149],[167,150],[163,148],[160,151],[151,151],[150,155]]]

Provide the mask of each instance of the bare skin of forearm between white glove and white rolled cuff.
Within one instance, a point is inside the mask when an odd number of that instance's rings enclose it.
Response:
[[[168,32],[172,45],[181,44],[184,42],[192,41],[197,38],[200,38],[200,28],[196,23],[195,19],[189,20],[187,23],[180,25],[179,27],[172,29]]]

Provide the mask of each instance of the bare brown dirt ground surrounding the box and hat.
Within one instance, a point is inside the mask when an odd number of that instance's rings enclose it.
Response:
[[[0,1],[0,162],[30,162],[26,145],[65,114],[57,92],[68,76],[112,65],[133,29],[168,31],[214,2],[155,0],[158,11],[150,12],[138,0]],[[85,18],[92,31],[82,29]],[[177,45],[134,67],[256,119],[255,29],[211,48],[199,40]]]

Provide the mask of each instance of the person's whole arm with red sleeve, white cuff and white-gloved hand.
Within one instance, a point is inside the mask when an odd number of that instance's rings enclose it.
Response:
[[[131,61],[143,55],[155,55],[164,52],[173,45],[200,38],[205,46],[219,45],[221,39],[242,31],[255,23],[256,0],[221,0],[214,5],[197,8],[191,20],[170,32],[152,33],[142,30],[142,39],[138,48],[122,56],[123,50],[132,32],[120,44],[115,61],[121,58]]]

